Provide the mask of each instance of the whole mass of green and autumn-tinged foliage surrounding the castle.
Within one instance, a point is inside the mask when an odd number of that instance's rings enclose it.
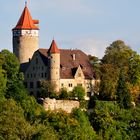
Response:
[[[99,101],[96,95],[89,101],[92,112],[80,109],[74,109],[71,114],[60,110],[46,112],[25,90],[17,58],[7,50],[1,51],[0,139],[140,139],[139,55],[119,40],[106,49],[102,63],[98,58],[91,57],[90,60],[95,68],[95,78],[101,79],[100,99],[117,101]],[[51,84],[44,83],[42,97],[58,98],[55,86]],[[98,88],[96,91],[94,93],[98,93]],[[63,89],[59,97],[76,97],[85,105],[88,102],[82,100],[84,95],[82,87],[75,87],[71,95]],[[129,108],[130,95],[136,102],[133,108]]]

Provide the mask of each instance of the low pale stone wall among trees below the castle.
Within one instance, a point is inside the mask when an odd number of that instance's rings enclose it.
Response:
[[[80,104],[78,101],[72,100],[56,100],[46,98],[43,102],[45,110],[59,110],[62,109],[67,113],[71,113],[72,109],[79,108]]]

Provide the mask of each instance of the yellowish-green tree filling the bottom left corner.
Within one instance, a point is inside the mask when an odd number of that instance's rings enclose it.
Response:
[[[28,139],[31,126],[24,119],[23,110],[12,99],[0,102],[0,137],[2,139]]]

